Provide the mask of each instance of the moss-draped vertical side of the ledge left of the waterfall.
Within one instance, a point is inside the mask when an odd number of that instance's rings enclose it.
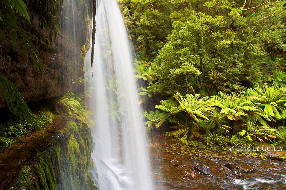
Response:
[[[70,121],[65,129],[46,146],[46,150],[38,152],[19,170],[11,189],[97,189],[88,172],[94,167],[90,158],[93,145],[88,126]]]

